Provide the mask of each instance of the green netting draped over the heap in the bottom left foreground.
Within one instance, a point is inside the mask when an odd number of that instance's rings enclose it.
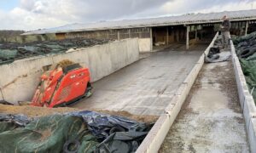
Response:
[[[90,133],[78,137],[79,133],[87,130],[84,120],[78,116],[45,116],[30,122],[26,127],[14,126],[1,122],[0,152],[63,152],[67,140],[78,139],[81,144],[78,152],[87,153],[93,152],[98,144],[96,137]]]

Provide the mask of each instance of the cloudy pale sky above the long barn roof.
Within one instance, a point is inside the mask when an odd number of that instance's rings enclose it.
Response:
[[[256,0],[0,0],[0,29],[256,8]]]

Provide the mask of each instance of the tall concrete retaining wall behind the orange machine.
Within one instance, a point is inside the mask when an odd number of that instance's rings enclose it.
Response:
[[[89,67],[91,81],[95,82],[137,61],[138,39],[125,39],[91,48],[79,48],[67,54],[21,59],[9,65],[0,65],[0,100],[4,99],[13,104],[19,100],[31,100],[43,73],[43,66],[52,65],[62,59],[71,59]]]

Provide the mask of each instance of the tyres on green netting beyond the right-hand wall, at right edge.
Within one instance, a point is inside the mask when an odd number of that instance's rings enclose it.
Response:
[[[256,101],[256,31],[233,39],[250,94]]]

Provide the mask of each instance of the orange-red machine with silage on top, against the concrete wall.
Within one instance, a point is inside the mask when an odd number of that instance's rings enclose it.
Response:
[[[31,105],[44,107],[71,105],[79,99],[90,97],[91,89],[88,68],[66,60],[42,75]]]

